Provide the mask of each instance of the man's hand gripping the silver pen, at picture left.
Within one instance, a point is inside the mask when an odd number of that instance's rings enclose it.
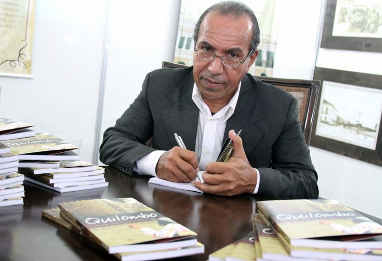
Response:
[[[155,167],[159,178],[174,182],[190,182],[195,180],[199,164],[194,151],[173,147],[163,153]]]

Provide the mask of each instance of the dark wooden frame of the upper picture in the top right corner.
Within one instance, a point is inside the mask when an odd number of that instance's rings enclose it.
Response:
[[[382,38],[333,36],[337,0],[326,0],[321,48],[382,52]]]

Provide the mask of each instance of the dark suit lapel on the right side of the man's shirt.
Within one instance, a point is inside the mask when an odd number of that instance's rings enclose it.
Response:
[[[255,88],[256,86],[253,85],[248,76],[244,75],[235,112],[227,121],[223,139],[224,141],[228,137],[230,129],[235,129],[236,132],[242,129],[240,137],[247,156],[251,154],[264,135],[256,127],[256,123],[264,119],[265,114],[256,101]]]

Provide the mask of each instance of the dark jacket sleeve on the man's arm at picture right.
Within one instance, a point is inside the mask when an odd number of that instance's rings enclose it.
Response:
[[[271,168],[258,168],[260,196],[281,199],[318,197],[317,172],[297,116],[297,100],[293,99],[285,126],[272,146]]]

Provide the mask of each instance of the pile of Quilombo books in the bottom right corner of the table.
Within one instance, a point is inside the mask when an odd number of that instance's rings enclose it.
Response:
[[[210,261],[382,260],[382,226],[336,200],[256,204],[258,214],[245,250],[235,254],[240,241],[234,242],[211,253]]]

